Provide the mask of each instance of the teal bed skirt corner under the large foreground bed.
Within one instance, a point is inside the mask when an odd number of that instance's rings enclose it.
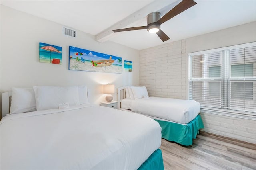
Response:
[[[162,151],[157,149],[149,158],[138,168],[138,170],[164,170]]]

